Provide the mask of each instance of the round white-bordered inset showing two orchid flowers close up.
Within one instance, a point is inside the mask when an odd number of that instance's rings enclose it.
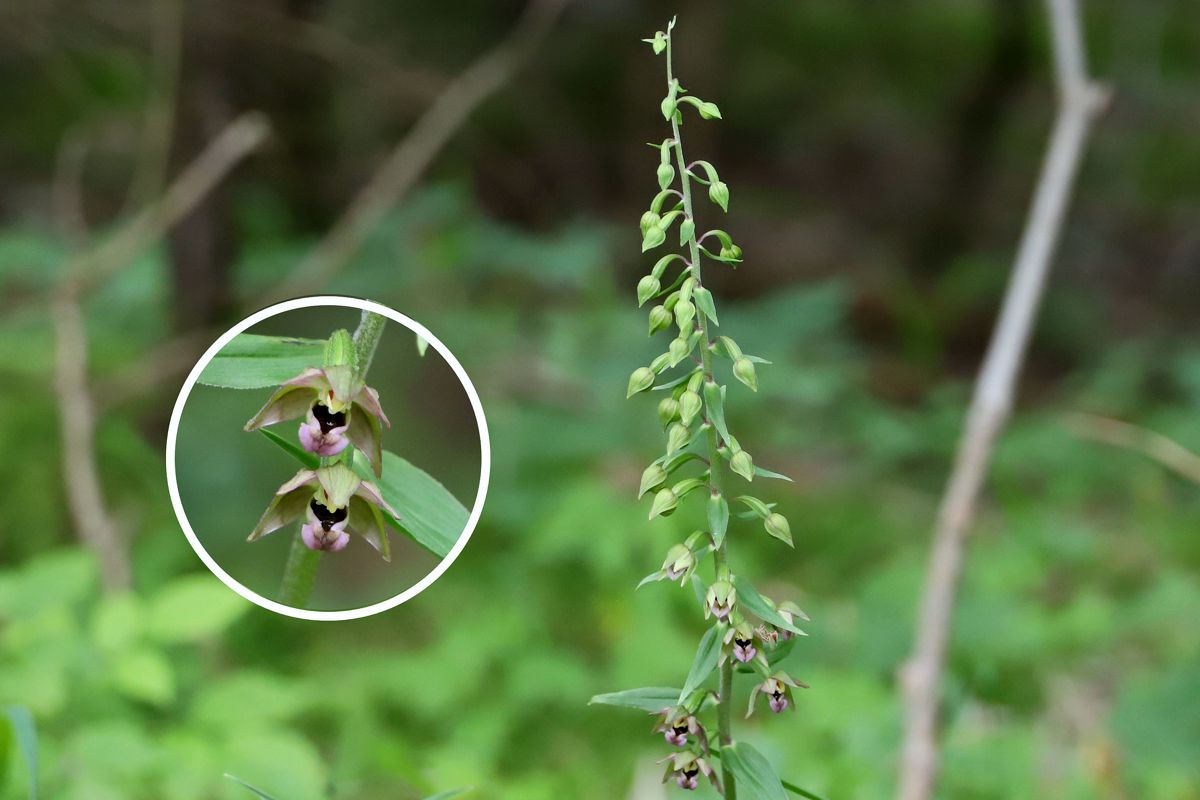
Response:
[[[467,511],[455,492],[469,495],[475,458]],[[184,381],[167,432],[192,549],[246,600],[298,619],[370,616],[420,594],[470,539],[490,471],[482,403],[458,360],[356,297],[287,300],[234,325]],[[307,597],[317,569],[317,600],[281,602]],[[336,608],[346,599],[358,607]]]

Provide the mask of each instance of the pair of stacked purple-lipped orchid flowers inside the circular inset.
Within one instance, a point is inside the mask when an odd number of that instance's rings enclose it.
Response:
[[[362,380],[349,332],[330,336],[324,360],[324,366],[284,380],[246,422],[246,431],[257,431],[300,419],[300,446],[320,459],[319,467],[300,470],[276,491],[248,540],[302,517],[300,539],[308,549],[336,553],[353,534],[390,560],[384,512],[395,518],[396,511],[373,482],[355,473],[353,455],[361,452],[371,471],[382,476],[382,429],[391,423],[379,393]]]

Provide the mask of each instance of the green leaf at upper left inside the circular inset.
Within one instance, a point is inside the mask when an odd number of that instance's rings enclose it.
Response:
[[[221,389],[278,386],[325,357],[324,339],[239,333],[209,361],[197,379]]]

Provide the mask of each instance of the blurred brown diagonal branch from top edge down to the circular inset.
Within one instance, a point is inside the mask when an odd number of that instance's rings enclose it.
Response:
[[[455,78],[416,120],[320,243],[264,302],[310,293],[336,276],[475,108],[512,79],[565,5],[566,0],[533,0],[512,32]]]

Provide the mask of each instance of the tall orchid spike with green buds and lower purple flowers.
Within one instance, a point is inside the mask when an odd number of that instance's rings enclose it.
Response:
[[[695,789],[708,781],[727,800],[737,798],[739,783],[754,798],[782,798],[788,790],[803,795],[808,793],[781,781],[761,753],[733,735],[734,673],[755,676],[746,716],[760,696],[776,714],[794,708],[792,690],[804,684],[778,664],[794,645],[793,637],[803,634],[797,622],[808,618],[792,602],[776,603],[761,595],[730,558],[731,503],[738,510],[737,518],[757,521],[767,535],[792,546],[787,518],[773,504],[739,494],[731,482],[788,479],[757,467],[726,423],[726,385],[719,361],[727,361],[728,374],[751,391],[758,389],[756,365],[769,362],[743,353],[732,338],[714,332],[719,325],[716,305],[703,285],[701,265],[707,259],[736,269],[742,248],[721,229],[701,233],[697,227],[695,186],[707,186],[708,199],[722,212],[728,211],[730,190],[712,163],[684,157],[682,127],[685,116],[719,120],[721,112],[676,79],[673,29],[672,19],[666,31],[644,40],[656,55],[666,56],[661,112],[671,134],[650,145],[659,154],[658,193],[642,215],[641,234],[642,252],[658,249],[668,239],[676,239],[682,252],[659,258],[637,283],[638,306],[652,303],[649,335],[670,331],[672,337],[665,353],[634,371],[626,396],[664,395],[658,417],[666,433],[665,451],[646,468],[638,489],[638,498],[652,497],[649,519],[676,513],[689,498],[701,498],[704,506],[702,528],[671,547],[662,566],[640,587],[691,584],[703,619],[713,622],[701,637],[683,688],[613,692],[594,697],[593,703],[641,709],[654,716],[654,732],[673,748],[660,762],[664,782],[673,780],[683,789]],[[672,270],[674,276],[670,277]],[[701,577],[704,560],[710,561],[712,577]],[[718,762],[720,774],[714,766]]]

